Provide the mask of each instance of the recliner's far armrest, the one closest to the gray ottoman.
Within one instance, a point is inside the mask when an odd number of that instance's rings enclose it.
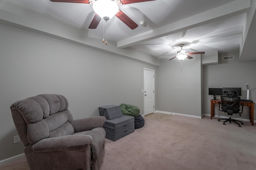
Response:
[[[96,127],[103,127],[106,121],[104,116],[88,117],[71,121],[75,132],[90,131]]]

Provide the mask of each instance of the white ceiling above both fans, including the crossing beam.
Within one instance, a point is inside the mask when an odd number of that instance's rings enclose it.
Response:
[[[0,5],[3,2],[6,0],[0,0]],[[103,20],[96,29],[88,29],[95,15],[91,4],[50,0],[16,2],[68,25],[85,29],[87,37],[102,41]],[[205,51],[205,55],[216,50],[219,53],[238,51],[243,43],[250,45],[248,41],[243,42],[243,36],[252,2],[255,3],[255,0],[153,0],[121,5],[120,10],[139,26],[132,30],[114,16],[107,22],[107,40],[116,42],[118,48],[132,48],[164,60],[173,56],[162,55],[176,54],[180,50],[179,44],[185,44],[183,49],[187,52]],[[141,26],[141,21],[146,26]],[[251,27],[247,31],[249,37],[255,40],[255,31]],[[244,57],[243,60],[256,60],[256,56]]]

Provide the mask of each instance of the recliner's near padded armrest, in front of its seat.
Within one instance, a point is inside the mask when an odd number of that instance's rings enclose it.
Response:
[[[50,152],[55,150],[80,151],[92,144],[90,135],[67,135],[63,137],[46,138],[32,146],[36,152]]]

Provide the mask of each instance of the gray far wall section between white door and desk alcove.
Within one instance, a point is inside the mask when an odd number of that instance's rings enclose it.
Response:
[[[201,104],[201,59],[162,60],[157,70],[156,110],[199,116]]]

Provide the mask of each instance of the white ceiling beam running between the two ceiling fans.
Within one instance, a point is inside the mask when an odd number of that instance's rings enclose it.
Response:
[[[154,30],[118,41],[117,47],[130,47],[138,43],[205,25],[213,21],[222,20],[230,16],[235,16],[244,12],[248,12],[249,8],[250,0],[236,0],[223,6],[208,10],[206,12],[190,16],[183,20],[176,21],[174,23],[158,27]]]

